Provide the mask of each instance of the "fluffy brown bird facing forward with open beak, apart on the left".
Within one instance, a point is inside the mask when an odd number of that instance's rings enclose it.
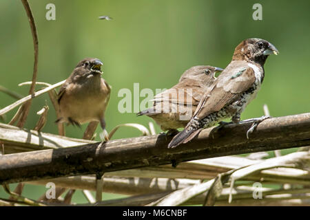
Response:
[[[61,86],[58,94],[57,123],[67,122],[80,126],[98,121],[105,129],[105,109],[110,99],[110,85],[101,78],[101,65],[97,58],[85,58],[76,65],[72,74]]]

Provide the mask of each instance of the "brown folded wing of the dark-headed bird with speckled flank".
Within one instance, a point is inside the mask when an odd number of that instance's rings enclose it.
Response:
[[[210,92],[207,92],[200,101],[194,117],[203,119],[210,113],[220,111],[225,105],[234,102],[243,91],[247,91],[255,79],[254,69],[251,67],[238,67],[223,72]]]

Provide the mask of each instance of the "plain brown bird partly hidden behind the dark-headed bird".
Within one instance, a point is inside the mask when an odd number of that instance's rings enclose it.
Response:
[[[137,115],[153,118],[168,135],[177,133],[192,118],[203,94],[214,82],[220,67],[195,66],[187,69],[178,84],[154,97],[154,105]]]

